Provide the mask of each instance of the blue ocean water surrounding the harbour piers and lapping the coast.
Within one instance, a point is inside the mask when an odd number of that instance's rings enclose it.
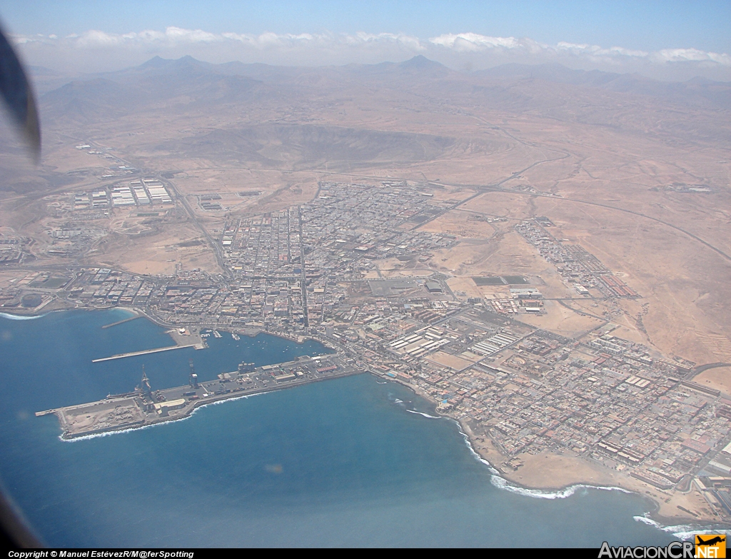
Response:
[[[0,316],[0,480],[48,544],[86,546],[590,546],[664,544],[633,517],[639,495],[579,489],[567,498],[501,490],[458,425],[368,374],[198,409],[141,430],[61,441],[42,409],[126,392],[141,367],[153,388],[238,362],[325,349],[269,335],[208,338],[210,348],[91,363],[168,346],[124,311]]]

